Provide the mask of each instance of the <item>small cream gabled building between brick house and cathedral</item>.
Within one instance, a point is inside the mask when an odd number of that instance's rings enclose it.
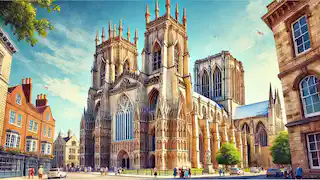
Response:
[[[62,137],[59,132],[54,141],[54,159],[55,167],[77,167],[80,165],[80,142],[77,137],[68,131],[66,137]]]

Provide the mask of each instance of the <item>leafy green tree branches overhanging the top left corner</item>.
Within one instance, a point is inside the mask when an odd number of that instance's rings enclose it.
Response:
[[[37,9],[45,8],[48,12],[60,11],[54,0],[15,0],[0,1],[0,24],[9,25],[18,40],[25,40],[31,46],[37,43],[35,32],[46,37],[53,26],[48,19],[37,19]]]

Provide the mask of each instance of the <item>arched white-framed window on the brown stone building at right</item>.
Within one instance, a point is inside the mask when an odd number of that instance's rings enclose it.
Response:
[[[306,117],[320,114],[320,93],[318,87],[319,80],[314,75],[307,76],[300,82],[301,99]]]

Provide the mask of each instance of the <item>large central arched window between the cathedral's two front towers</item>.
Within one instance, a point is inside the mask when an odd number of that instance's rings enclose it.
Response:
[[[133,106],[126,95],[118,101],[116,112],[116,141],[133,139]]]

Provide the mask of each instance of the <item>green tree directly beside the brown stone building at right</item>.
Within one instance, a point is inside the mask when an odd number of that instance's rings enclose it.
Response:
[[[270,148],[272,161],[275,164],[291,164],[291,154],[289,146],[289,135],[287,131],[282,131],[275,139]]]

